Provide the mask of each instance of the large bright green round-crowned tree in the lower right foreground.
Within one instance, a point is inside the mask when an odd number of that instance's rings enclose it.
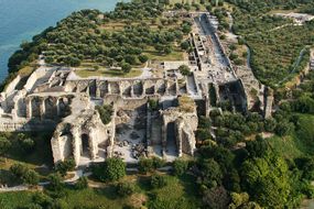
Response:
[[[285,161],[273,155],[248,160],[241,168],[243,187],[266,208],[285,208],[291,195]]]

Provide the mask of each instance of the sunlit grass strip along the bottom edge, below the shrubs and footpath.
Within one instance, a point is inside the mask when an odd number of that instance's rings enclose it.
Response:
[[[191,176],[177,178],[166,175],[167,185],[160,189],[152,189],[149,176],[129,175],[122,182],[136,184],[136,194],[119,197],[113,184],[100,184],[101,188],[76,190],[66,188],[65,195],[58,201],[65,208],[112,208],[122,209],[126,206],[140,208],[142,205],[156,209],[194,209],[201,200],[196,197],[196,184]],[[17,191],[0,194],[0,208],[13,209],[32,202],[32,191]],[[143,204],[147,202],[147,204]]]

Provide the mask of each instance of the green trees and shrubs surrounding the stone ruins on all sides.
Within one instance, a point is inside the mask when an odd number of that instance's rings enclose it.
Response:
[[[128,70],[130,66],[144,63],[151,48],[161,54],[171,53],[176,45],[187,50],[182,43],[191,24],[176,19],[160,20],[164,8],[171,7],[162,4],[169,1],[160,2],[160,6],[150,1],[118,3],[115,11],[105,14],[96,10],[75,12],[55,28],[35,36],[33,42],[22,44],[22,50],[10,59],[10,72],[29,65],[41,52],[46,54],[47,63],[80,66],[93,62]],[[286,19],[273,18],[269,12],[274,9],[313,12],[312,0],[228,2],[235,16],[234,31],[251,48],[255,74],[264,84],[280,85],[292,70],[301,50],[313,44],[314,24],[289,25],[268,32],[291,23]],[[226,21],[223,1],[218,8],[215,1],[207,0],[195,1],[194,6],[178,2],[172,7],[184,10],[203,7]],[[221,30],[226,29],[227,22]],[[307,61],[308,52],[305,51],[294,74],[302,70]],[[139,174],[127,174],[127,165],[121,160],[111,158],[93,166],[91,177],[83,177],[72,186],[63,183],[66,172],[74,169],[72,158],[51,170],[39,170],[34,166],[42,165],[43,161],[51,162],[48,157],[42,157],[50,154],[43,153],[48,136],[1,134],[0,155],[3,161],[0,166],[7,167],[1,167],[6,172],[0,173],[0,182],[36,185],[40,180],[48,180],[51,185],[44,191],[0,194],[0,206],[24,209],[100,206],[297,208],[302,199],[314,196],[311,185],[314,178],[314,73],[292,90],[277,90],[275,107],[273,118],[263,119],[258,111],[234,113],[227,103],[219,103],[217,108],[223,111],[215,109],[209,118],[199,118],[196,133],[198,152],[194,158],[180,158],[171,164],[159,158],[141,158]],[[98,107],[98,112],[104,123],[110,121],[110,107]],[[32,157],[23,157],[23,153],[31,153]],[[164,165],[171,165],[173,169],[166,174],[158,172]],[[8,179],[14,179],[14,183]],[[88,180],[99,184],[100,188],[87,188]]]

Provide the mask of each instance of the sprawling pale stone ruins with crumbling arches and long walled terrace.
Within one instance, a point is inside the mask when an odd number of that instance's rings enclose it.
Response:
[[[75,68],[40,59],[26,82],[18,76],[1,92],[0,131],[53,130],[54,162],[74,157],[78,166],[111,156],[133,163],[140,156],[193,155],[198,116],[208,116],[220,101],[246,111],[247,95],[216,35],[215,19],[202,12],[188,16],[193,52],[186,61],[155,63],[161,75],[148,65],[133,78],[82,78]],[[182,75],[181,65],[191,75]],[[96,109],[105,105],[112,107],[107,124]]]

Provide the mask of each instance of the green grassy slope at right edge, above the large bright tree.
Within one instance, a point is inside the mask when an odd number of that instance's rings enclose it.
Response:
[[[286,158],[314,154],[314,116],[300,114],[300,130],[292,135],[270,138],[269,144],[274,152]]]

